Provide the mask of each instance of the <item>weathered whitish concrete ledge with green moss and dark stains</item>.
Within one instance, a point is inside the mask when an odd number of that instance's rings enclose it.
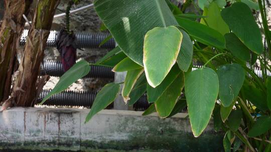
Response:
[[[0,113],[0,150],[222,151],[210,122],[193,137],[187,114],[161,119],[139,111],[15,107]]]

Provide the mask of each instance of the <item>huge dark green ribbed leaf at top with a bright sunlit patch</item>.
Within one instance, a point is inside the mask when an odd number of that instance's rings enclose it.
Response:
[[[119,47],[140,65],[145,34],[178,25],[165,0],[95,0],[94,8]]]

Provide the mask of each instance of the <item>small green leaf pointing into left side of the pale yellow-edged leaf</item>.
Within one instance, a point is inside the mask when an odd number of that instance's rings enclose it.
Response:
[[[117,63],[112,69],[112,71],[123,72],[127,70],[139,69],[139,68],[142,68],[142,66],[132,61],[129,57],[126,57],[123,60],[121,60],[119,63]]]

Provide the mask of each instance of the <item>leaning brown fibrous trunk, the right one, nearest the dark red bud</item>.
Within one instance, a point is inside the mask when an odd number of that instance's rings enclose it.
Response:
[[[54,13],[60,0],[39,0],[28,33],[19,74],[13,87],[13,97],[18,106],[33,106],[38,93],[40,64],[50,33]]]

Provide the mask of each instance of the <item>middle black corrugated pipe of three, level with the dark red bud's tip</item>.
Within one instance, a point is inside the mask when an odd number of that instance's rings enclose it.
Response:
[[[64,70],[60,61],[45,60],[41,65],[41,75],[62,76]],[[111,67],[91,65],[90,72],[85,77],[114,78]]]

